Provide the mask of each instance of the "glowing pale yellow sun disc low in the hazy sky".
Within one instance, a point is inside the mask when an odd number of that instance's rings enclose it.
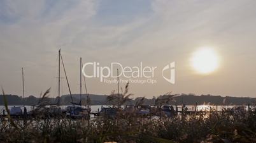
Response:
[[[193,53],[191,61],[194,70],[202,74],[217,70],[219,65],[217,53],[210,48],[203,48]]]

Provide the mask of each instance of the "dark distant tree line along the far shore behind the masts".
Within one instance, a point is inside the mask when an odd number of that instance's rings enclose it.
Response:
[[[106,100],[107,95],[95,95],[89,94],[90,105],[102,105],[109,104]],[[159,97],[153,97],[152,99],[136,97],[125,104],[136,104],[141,98],[143,98],[143,104],[154,105],[157,98],[164,98],[165,95]],[[39,101],[39,97],[29,96],[23,99],[21,96],[17,95],[6,95],[8,105],[36,105]],[[47,103],[55,104],[59,99],[57,97],[47,97]],[[74,103],[80,102],[80,94],[73,95]],[[82,95],[82,104],[87,104],[87,95]],[[211,96],[211,95],[201,95],[195,96],[194,94],[178,94],[173,96],[173,100],[169,104],[218,104],[218,105],[242,105],[242,104],[255,104],[256,98],[252,97],[222,97],[222,96]],[[0,105],[3,105],[3,95],[0,95]],[[61,105],[70,105],[71,97],[69,95],[64,95],[60,97]]]

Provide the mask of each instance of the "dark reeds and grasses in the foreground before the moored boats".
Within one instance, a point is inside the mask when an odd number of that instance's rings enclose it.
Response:
[[[8,120],[0,120],[0,142],[256,142],[253,107],[250,111],[227,109],[159,118],[118,108],[129,96],[127,87],[121,96],[110,96],[110,101],[118,101],[113,102],[118,109],[115,118],[46,118],[43,107],[32,120],[14,120],[8,115]]]

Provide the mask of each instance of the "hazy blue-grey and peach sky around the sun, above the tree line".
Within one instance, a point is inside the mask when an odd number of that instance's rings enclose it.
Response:
[[[103,66],[157,66],[156,84],[130,83],[134,97],[256,97],[255,6],[253,0],[0,0],[0,85],[6,94],[22,95],[24,67],[25,96],[51,87],[56,97],[61,48],[72,93],[80,92],[82,57]],[[218,69],[207,75],[190,63],[202,47],[219,58]],[[173,61],[176,81],[170,84],[161,68]],[[68,94],[61,75],[61,94]],[[86,82],[90,94],[117,89],[99,78]]]

